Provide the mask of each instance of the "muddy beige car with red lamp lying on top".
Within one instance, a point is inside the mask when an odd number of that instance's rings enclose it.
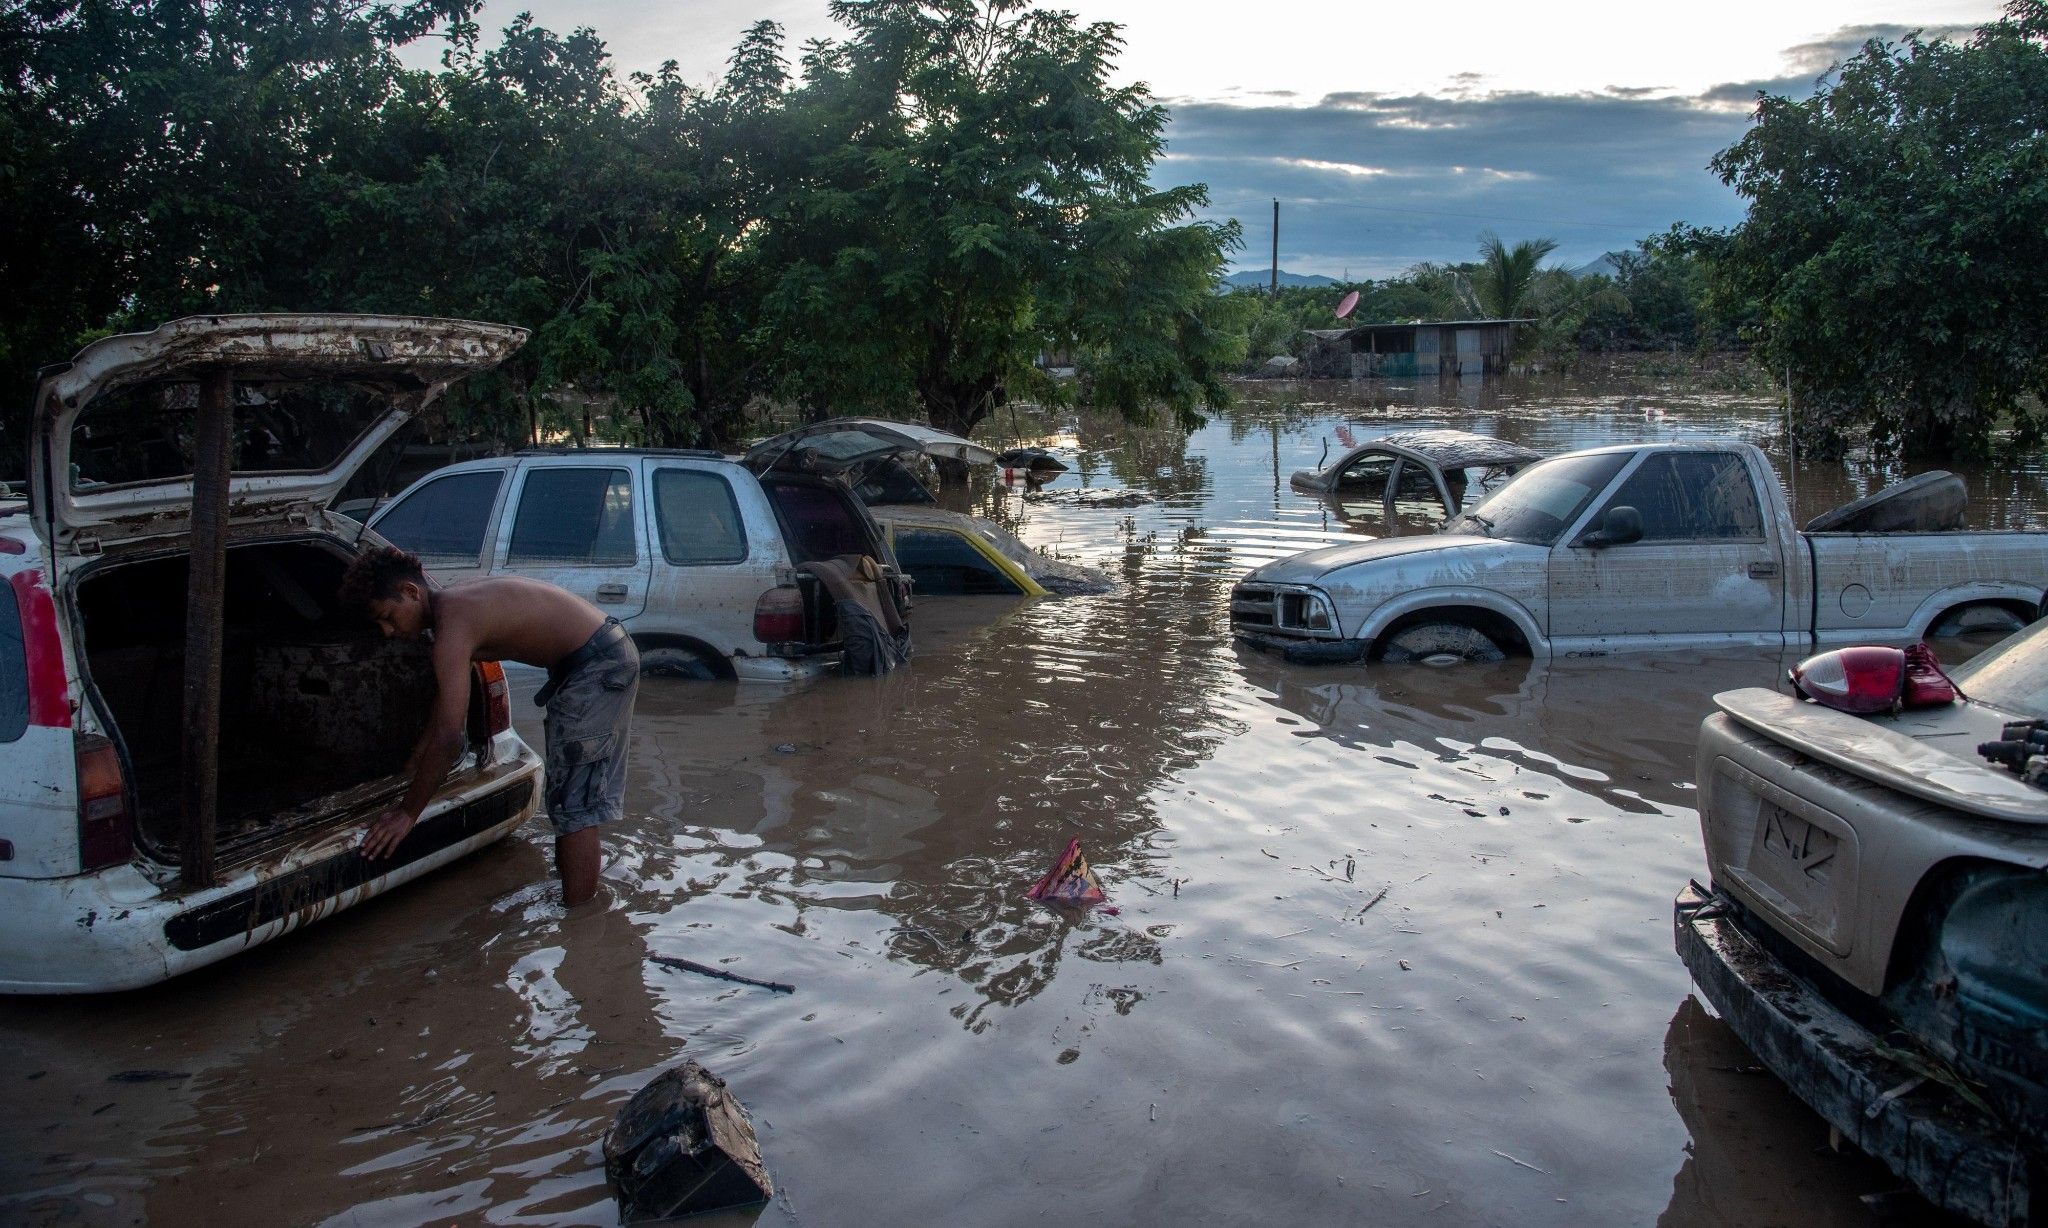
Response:
[[[2017,1228],[2048,1216],[2048,759],[2028,753],[2048,751],[2048,620],[1952,677],[1958,702],[1876,716],[1716,696],[1710,884],[1677,896],[1675,944],[1843,1138]]]

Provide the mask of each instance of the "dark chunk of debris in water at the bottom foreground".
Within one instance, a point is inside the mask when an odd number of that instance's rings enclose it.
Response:
[[[604,1179],[623,1224],[774,1197],[745,1109],[696,1062],[662,1070],[618,1109],[604,1132]]]

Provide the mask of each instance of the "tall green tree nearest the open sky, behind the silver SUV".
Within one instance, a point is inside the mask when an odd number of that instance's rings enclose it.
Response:
[[[754,344],[784,397],[965,434],[1075,350],[1128,411],[1225,399],[1241,350],[1212,289],[1237,231],[1188,221],[1204,188],[1147,182],[1167,115],[1110,84],[1114,27],[1020,0],[831,12],[852,33],[805,53],[803,182],[760,235]]]

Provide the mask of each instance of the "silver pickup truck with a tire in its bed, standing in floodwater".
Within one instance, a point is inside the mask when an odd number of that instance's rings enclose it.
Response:
[[[2048,532],[1956,528],[1962,483],[1948,475],[1894,491],[1800,532],[1753,444],[1571,452],[1524,469],[1434,536],[1257,567],[1231,591],[1231,630],[1290,661],[1450,661],[1903,645],[2034,616]]]

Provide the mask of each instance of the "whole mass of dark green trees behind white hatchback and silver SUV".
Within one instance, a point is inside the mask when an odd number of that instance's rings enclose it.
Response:
[[[840,41],[760,23],[711,88],[621,80],[588,29],[471,0],[25,0],[0,14],[0,311],[27,381],[195,311],[502,319],[528,346],[449,405],[504,440],[729,438],[807,413],[971,428],[1034,360],[1130,413],[1225,397],[1235,227],[1149,184],[1167,115],[1110,25],[1022,0],[842,0]],[[438,70],[401,63],[446,41]],[[1225,327],[1219,327],[1219,321]],[[1235,348],[1233,348],[1235,346]],[[12,463],[8,463],[12,467]]]

